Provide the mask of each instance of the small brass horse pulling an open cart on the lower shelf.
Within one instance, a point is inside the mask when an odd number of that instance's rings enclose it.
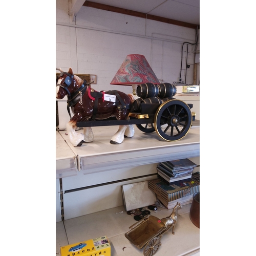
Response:
[[[147,215],[139,223],[137,222],[129,227],[131,230],[125,233],[124,236],[138,249],[144,247],[144,256],[152,256],[159,249],[164,232],[173,228],[173,234],[175,234],[174,228],[177,223],[179,209],[182,209],[182,206],[177,202],[172,214],[161,220],[155,216]]]

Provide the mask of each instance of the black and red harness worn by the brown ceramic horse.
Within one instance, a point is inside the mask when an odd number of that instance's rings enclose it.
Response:
[[[92,82],[87,83],[87,80],[84,79],[82,85],[75,92],[73,92],[71,94],[70,91],[68,90],[68,87],[70,86],[71,81],[74,78],[74,75],[70,74],[70,73],[67,73],[67,72],[61,72],[60,76],[63,76],[64,74],[67,75],[67,77],[64,81],[66,86],[62,86],[61,84],[58,83],[58,84],[56,84],[56,87],[59,86],[59,87],[65,89],[68,93],[68,95],[67,95],[67,97],[68,97],[67,110],[68,110],[68,113],[69,113],[69,116],[70,116],[70,119],[71,119],[72,117],[71,117],[71,114],[70,114],[70,107],[74,106],[79,100],[80,100],[80,104],[82,105],[82,96],[86,92],[86,89],[89,86],[89,84],[91,84]],[[56,79],[56,81],[57,81],[57,79]],[[116,96],[116,106],[117,106],[117,109],[119,111],[118,120],[120,120],[120,111],[121,111],[121,109],[131,109],[131,107],[129,106],[129,104],[124,103],[124,101],[121,98],[121,96],[119,95],[118,91],[113,90],[113,91],[108,91],[108,92],[97,92],[97,91],[91,92],[91,88],[89,87],[88,95],[89,95],[90,99],[94,100],[92,120],[96,119],[96,114],[97,114],[97,110],[98,110],[98,99],[103,98],[105,93],[107,93],[107,94],[113,94],[114,93],[114,95]],[[119,102],[118,102],[118,100],[119,100]],[[104,101],[104,98],[103,98],[103,101]]]

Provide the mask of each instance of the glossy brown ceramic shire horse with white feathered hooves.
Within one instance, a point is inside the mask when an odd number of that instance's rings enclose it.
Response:
[[[92,142],[94,139],[91,127],[83,127],[83,134],[76,132],[76,123],[79,121],[88,121],[89,118],[106,119],[111,116],[116,116],[117,120],[129,119],[128,115],[135,100],[132,94],[116,90],[97,92],[86,80],[74,75],[72,68],[69,68],[68,72],[57,68],[56,70],[61,72],[56,79],[56,98],[62,99],[67,95],[68,112],[70,114],[71,107],[74,114],[67,124],[67,133],[73,146],[81,146],[83,142]],[[124,136],[134,136],[133,125],[120,125],[110,143],[120,144]]]

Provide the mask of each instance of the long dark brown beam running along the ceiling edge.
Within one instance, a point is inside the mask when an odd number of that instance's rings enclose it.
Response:
[[[182,27],[186,27],[186,28],[192,28],[192,29],[198,28],[199,29],[199,25],[196,25],[196,24],[180,22],[179,20],[175,20],[175,19],[164,18],[164,17],[160,17],[160,16],[146,14],[143,12],[136,12],[136,11],[127,10],[127,9],[114,7],[114,6],[110,6],[110,5],[98,4],[98,3],[91,2],[91,1],[84,2],[83,6],[97,8],[97,9],[110,11],[110,12],[118,12],[121,14],[131,15],[131,16],[145,18],[145,19],[152,19],[152,20],[156,20],[157,22],[164,22],[164,23],[182,26]]]

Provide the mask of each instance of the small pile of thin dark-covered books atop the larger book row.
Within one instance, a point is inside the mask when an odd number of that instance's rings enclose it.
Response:
[[[157,173],[160,179],[171,184],[174,181],[191,178],[196,166],[197,164],[187,158],[161,162],[157,166]]]

